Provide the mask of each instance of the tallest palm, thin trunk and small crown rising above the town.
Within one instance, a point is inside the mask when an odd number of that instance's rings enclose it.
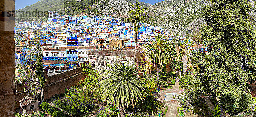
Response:
[[[128,11],[129,17],[127,18],[127,20],[129,22],[131,22],[131,24],[134,27],[134,39],[135,39],[135,53],[134,53],[134,57],[136,56],[136,45],[137,45],[137,34],[139,33],[139,29],[140,29],[140,25],[139,23],[145,23],[147,18],[148,18],[148,14],[146,14],[145,10],[147,9],[146,7],[143,7],[142,5],[140,5],[140,3],[138,1],[136,1],[133,4],[131,4],[132,9]]]

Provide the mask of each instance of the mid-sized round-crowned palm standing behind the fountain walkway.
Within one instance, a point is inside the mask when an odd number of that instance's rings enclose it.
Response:
[[[159,87],[160,66],[171,60],[172,44],[169,40],[166,40],[164,35],[154,35],[154,37],[156,40],[151,40],[144,49],[148,60],[153,64],[157,64],[157,87]]]

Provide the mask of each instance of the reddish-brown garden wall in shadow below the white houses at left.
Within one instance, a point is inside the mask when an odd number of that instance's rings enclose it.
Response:
[[[47,81],[44,84],[44,100],[51,99],[55,94],[65,93],[70,87],[78,85],[80,80],[84,80],[84,73],[80,67],[52,76],[47,76],[45,71],[45,77]],[[15,84],[15,86],[17,91],[15,107],[18,109],[20,108],[19,101],[26,97],[27,91],[24,91],[26,87],[24,84]],[[41,96],[41,94],[38,94],[38,96]],[[38,100],[41,100],[41,97]]]

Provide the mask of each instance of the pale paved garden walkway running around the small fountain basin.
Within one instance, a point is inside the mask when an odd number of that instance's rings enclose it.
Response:
[[[178,101],[173,100],[164,100],[166,93],[178,93],[182,94],[183,90],[180,90],[179,80],[176,79],[175,85],[173,85],[172,89],[163,89],[160,90],[155,97],[157,97],[158,100],[164,103],[165,106],[168,106],[168,110],[166,113],[166,117],[176,117],[177,115],[177,108],[179,107]]]

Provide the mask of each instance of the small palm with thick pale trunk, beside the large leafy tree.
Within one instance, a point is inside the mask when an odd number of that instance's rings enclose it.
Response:
[[[190,46],[188,39],[185,39],[183,44],[181,45],[181,54],[182,54],[182,64],[183,64],[183,74],[186,74],[187,71],[187,65],[188,65],[188,58],[187,54],[190,52]]]

